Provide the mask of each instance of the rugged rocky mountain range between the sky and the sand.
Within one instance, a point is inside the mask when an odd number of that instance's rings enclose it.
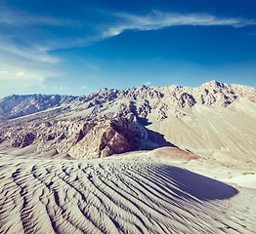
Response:
[[[0,100],[0,114],[0,142],[36,145],[35,153],[56,149],[90,159],[177,145],[217,160],[256,155],[254,87],[211,81],[198,88],[101,89],[82,97],[11,96]]]

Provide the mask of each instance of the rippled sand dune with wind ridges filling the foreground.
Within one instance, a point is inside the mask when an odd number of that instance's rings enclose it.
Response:
[[[3,157],[0,233],[253,233],[237,192],[160,163]]]

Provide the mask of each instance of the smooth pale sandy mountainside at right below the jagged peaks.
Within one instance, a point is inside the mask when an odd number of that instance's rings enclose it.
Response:
[[[169,110],[162,122],[149,114],[149,130],[204,158],[227,163],[255,161],[255,103],[240,99],[226,108],[195,104],[179,111],[184,116]]]

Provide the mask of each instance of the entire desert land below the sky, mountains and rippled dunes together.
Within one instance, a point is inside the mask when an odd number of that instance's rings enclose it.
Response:
[[[0,100],[0,233],[255,233],[256,88]]]

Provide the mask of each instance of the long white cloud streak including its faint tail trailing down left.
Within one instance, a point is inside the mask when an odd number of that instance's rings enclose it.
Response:
[[[136,16],[126,13],[111,14],[116,17],[116,22],[98,25],[98,34],[86,38],[69,38],[66,40],[52,40],[44,51],[55,49],[67,49],[92,45],[96,41],[102,41],[112,36],[117,36],[125,30],[159,30],[169,26],[233,26],[242,27],[256,24],[255,20],[240,18],[218,18],[209,14],[176,14],[153,11],[146,16]]]

